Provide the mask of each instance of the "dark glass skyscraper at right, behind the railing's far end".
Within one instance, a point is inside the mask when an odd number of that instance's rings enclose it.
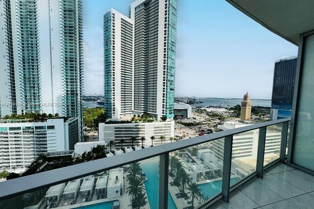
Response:
[[[291,117],[297,57],[276,60],[271,97],[271,119]]]

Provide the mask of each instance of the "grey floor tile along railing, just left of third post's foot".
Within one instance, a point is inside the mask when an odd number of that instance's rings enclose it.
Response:
[[[255,179],[252,180],[253,181],[249,181],[247,184],[241,186],[239,190],[251,198],[259,206],[264,206],[284,200],[278,194],[263,186]]]

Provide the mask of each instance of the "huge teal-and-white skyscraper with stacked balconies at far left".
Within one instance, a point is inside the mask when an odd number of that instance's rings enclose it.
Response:
[[[82,0],[0,1],[1,116],[82,118]]]

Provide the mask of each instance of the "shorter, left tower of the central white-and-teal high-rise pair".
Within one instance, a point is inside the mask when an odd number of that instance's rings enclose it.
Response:
[[[133,111],[133,21],[110,9],[104,15],[104,100],[109,119]]]

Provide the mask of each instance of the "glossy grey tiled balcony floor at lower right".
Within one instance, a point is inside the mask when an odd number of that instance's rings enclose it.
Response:
[[[278,163],[210,209],[313,209],[314,176]]]

